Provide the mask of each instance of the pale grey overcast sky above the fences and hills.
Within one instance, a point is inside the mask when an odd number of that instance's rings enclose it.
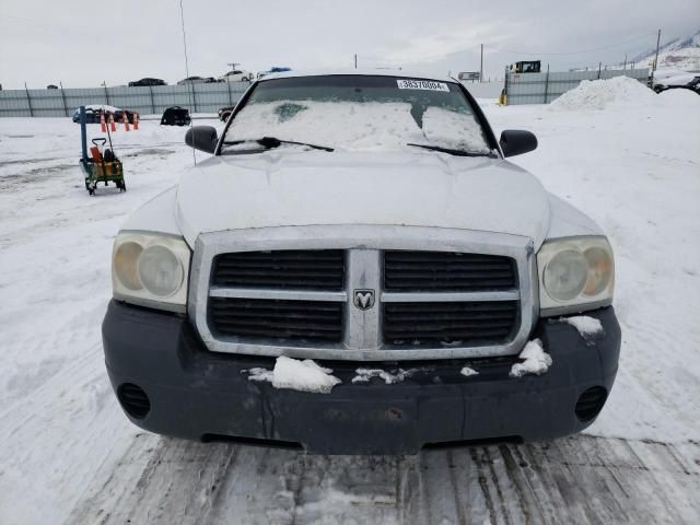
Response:
[[[700,30],[700,0],[183,0],[189,72],[402,67],[434,73],[541,59],[621,62]],[[0,0],[0,83],[66,88],[185,77],[179,0]]]

